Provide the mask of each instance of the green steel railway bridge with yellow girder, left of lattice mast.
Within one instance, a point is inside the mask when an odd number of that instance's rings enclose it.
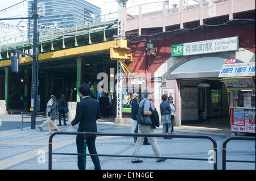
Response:
[[[65,94],[68,101],[80,100],[76,90],[85,82],[93,86],[92,96],[97,98],[97,83],[101,81],[101,78],[97,80],[97,74],[109,75],[110,68],[116,72],[121,58],[124,69],[127,68],[124,61],[131,61],[126,40],[115,37],[117,20],[40,33],[38,94],[42,107],[51,94],[57,98]],[[8,108],[28,110],[30,107],[32,57],[20,56],[19,73],[13,73],[10,56],[14,49],[30,54],[31,41],[1,43],[0,99],[6,100]]]

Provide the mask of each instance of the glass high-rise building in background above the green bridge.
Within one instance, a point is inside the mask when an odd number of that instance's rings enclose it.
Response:
[[[31,3],[28,3],[28,14],[31,14]],[[45,26],[75,27],[100,22],[101,9],[85,0],[39,0],[39,24]]]

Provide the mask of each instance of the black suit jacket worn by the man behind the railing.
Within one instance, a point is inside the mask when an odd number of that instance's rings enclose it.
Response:
[[[97,132],[96,120],[101,118],[97,100],[90,97],[82,99],[76,106],[76,116],[72,126],[79,124],[77,132]]]

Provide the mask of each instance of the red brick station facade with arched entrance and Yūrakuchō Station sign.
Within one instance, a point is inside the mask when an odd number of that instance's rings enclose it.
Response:
[[[226,60],[255,62],[253,16],[193,29],[147,28],[138,36],[127,32],[127,47],[133,53],[129,68],[144,77],[139,76],[137,83],[128,78],[126,89],[150,86],[158,111],[161,95],[172,96],[181,124],[213,117],[226,117],[229,124],[229,95],[218,75]],[[149,41],[154,42],[151,49],[146,47]]]

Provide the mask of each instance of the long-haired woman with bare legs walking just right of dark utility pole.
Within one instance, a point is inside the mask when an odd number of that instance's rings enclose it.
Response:
[[[61,131],[57,125],[54,123],[55,120],[59,119],[59,112],[57,110],[57,99],[55,97],[55,95],[51,96],[51,100],[52,100],[52,105],[48,105],[49,108],[51,108],[51,113],[50,113],[50,120],[48,122],[48,126],[49,126],[49,132],[47,135],[51,135],[51,127],[53,126],[55,129],[57,129],[57,131]]]

